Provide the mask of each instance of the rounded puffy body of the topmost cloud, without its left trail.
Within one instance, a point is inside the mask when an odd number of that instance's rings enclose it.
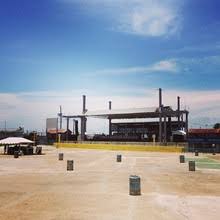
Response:
[[[173,3],[173,2],[172,2]],[[180,14],[170,1],[133,1],[119,21],[119,30],[143,35],[166,36],[179,29]]]

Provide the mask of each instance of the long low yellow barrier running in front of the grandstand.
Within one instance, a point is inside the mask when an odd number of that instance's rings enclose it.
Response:
[[[148,151],[148,152],[183,152],[184,147],[149,146],[149,145],[117,145],[117,144],[86,144],[86,143],[55,143],[57,148],[79,148],[99,150]]]

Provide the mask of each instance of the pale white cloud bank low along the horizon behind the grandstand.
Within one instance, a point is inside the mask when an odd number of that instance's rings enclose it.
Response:
[[[122,88],[120,88],[122,90]],[[45,130],[45,122],[48,117],[56,117],[59,105],[63,106],[65,114],[79,114],[82,111],[82,94],[87,94],[87,108],[89,110],[107,109],[108,101],[112,100],[112,107],[151,107],[158,105],[158,91],[155,89],[134,88],[129,92],[140,90],[140,96],[114,95],[103,96],[91,91],[66,91],[58,92],[31,92],[18,94],[1,93],[0,127],[4,127],[4,120],[9,127],[24,126],[25,129]],[[119,94],[121,92],[118,92]],[[92,94],[92,95],[91,95]],[[187,91],[187,90],[163,90],[164,105],[171,105],[176,109],[176,97],[181,97],[182,108],[190,111],[190,125],[205,126],[206,123],[214,123],[220,120],[220,90],[215,91]],[[13,105],[13,108],[7,106]],[[65,120],[64,120],[65,123]],[[65,126],[65,125],[64,125]],[[88,132],[102,132],[108,130],[106,120],[90,119]]]

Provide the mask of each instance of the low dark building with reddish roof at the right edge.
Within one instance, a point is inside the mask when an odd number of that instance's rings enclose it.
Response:
[[[220,129],[190,129],[187,141],[191,152],[220,152]]]

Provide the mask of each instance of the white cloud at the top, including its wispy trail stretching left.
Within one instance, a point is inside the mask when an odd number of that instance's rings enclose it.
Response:
[[[181,28],[179,0],[61,0],[79,3],[88,13],[113,21],[113,30],[143,36],[168,36]]]

